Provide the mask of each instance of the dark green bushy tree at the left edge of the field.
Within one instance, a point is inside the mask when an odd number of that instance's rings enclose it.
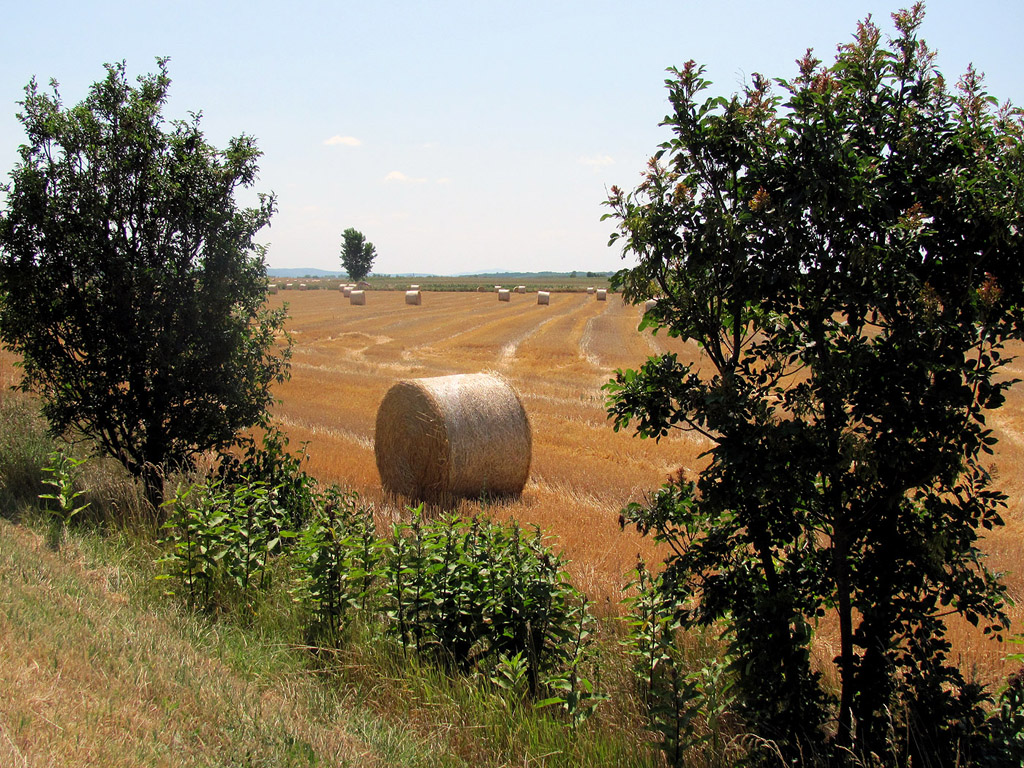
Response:
[[[3,186],[0,340],[22,357],[51,429],[94,441],[144,478],[222,450],[264,419],[288,373],[284,313],[268,310],[271,195],[240,208],[260,153],[219,151],[200,116],[165,123],[170,79],[106,66],[80,104],[26,88],[27,143]]]

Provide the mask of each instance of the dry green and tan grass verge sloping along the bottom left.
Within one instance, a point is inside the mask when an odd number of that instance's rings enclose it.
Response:
[[[53,441],[34,408],[0,410],[0,765],[660,764],[613,632],[602,683],[617,693],[573,729],[357,625],[312,653],[285,558],[255,603],[185,610],[156,580],[155,515],[112,463],[83,466],[89,514],[48,546],[33,494]]]

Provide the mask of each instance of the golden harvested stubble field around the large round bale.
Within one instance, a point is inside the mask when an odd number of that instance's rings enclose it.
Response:
[[[289,326],[295,339],[292,380],[278,389],[275,414],[293,445],[308,441],[309,469],[323,480],[358,490],[385,519],[401,513],[401,500],[386,498],[374,459],[378,407],[398,380],[493,371],[518,391],[532,430],[532,463],[521,498],[489,505],[487,512],[540,525],[570,558],[574,583],[616,610],[624,574],[639,554],[658,559],[652,545],[618,525],[621,508],[643,498],[672,472],[698,469],[707,447],[679,432],[660,442],[615,433],[601,385],[616,368],[637,367],[652,353],[675,351],[699,361],[691,344],[640,333],[643,305],[609,294],[598,302],[586,293],[552,293],[550,305],[531,294],[509,303],[493,293],[431,292],[422,306],[407,306],[403,293],[374,292],[353,307],[327,291],[292,294]],[[280,297],[270,297],[280,301]],[[1010,374],[1024,378],[1024,361]],[[989,420],[999,445],[997,482],[1010,494],[1007,526],[988,535],[990,564],[1008,571],[1012,596],[1024,600],[1020,575],[1024,532],[1024,389]],[[473,514],[479,502],[462,502]],[[1015,624],[1024,611],[1014,608]],[[822,657],[828,658],[827,631]],[[954,628],[955,652],[966,654],[983,678],[1001,669],[1007,648],[969,628]]]

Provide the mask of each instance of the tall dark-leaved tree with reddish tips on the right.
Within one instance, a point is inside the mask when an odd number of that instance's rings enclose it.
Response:
[[[786,760],[970,762],[986,693],[947,616],[1008,625],[978,537],[1001,524],[985,413],[1024,329],[1022,120],[973,70],[949,92],[923,15],[888,43],[866,19],[830,67],[808,51],[783,96],[670,70],[673,136],[608,200],[637,260],[613,285],[703,353],[616,372],[609,416],[711,441],[624,519],[670,545],[674,617],[723,628],[740,712]],[[838,691],[812,664],[826,614]]]

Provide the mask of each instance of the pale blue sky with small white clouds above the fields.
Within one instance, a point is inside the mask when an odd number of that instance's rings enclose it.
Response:
[[[0,170],[24,140],[29,79],[81,100],[106,61],[132,75],[170,56],[169,118],[203,112],[223,146],[254,135],[256,188],[278,195],[268,264],[338,267],[341,232],[377,246],[379,272],[615,269],[600,220],[667,136],[665,70],[695,59],[716,93],[752,72],[791,77],[807,47],[831,60],[868,13],[899,3],[9,3],[0,25]],[[955,79],[1024,104],[1020,0],[933,2],[923,37]]]

